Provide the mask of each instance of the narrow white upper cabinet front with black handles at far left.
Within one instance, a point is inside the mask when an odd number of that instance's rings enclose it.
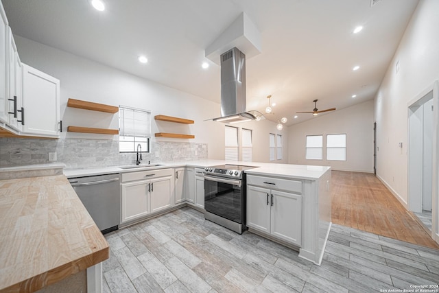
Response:
[[[8,99],[8,124],[16,131],[23,130],[22,106],[22,78],[19,52],[16,49],[14,36],[9,31],[9,99]]]

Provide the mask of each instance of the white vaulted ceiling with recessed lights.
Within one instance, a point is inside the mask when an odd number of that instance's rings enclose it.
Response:
[[[247,109],[263,112],[272,95],[274,115],[266,117],[287,117],[287,125],[311,119],[294,115],[312,110],[313,99],[319,110],[373,99],[418,3],[103,0],[99,12],[89,0],[1,1],[14,34],[215,102],[220,68],[204,50],[246,12],[262,43],[247,59]]]

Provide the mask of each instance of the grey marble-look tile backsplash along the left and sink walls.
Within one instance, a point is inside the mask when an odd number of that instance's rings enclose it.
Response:
[[[135,153],[119,154],[115,139],[17,139],[0,138],[0,167],[49,163],[49,152],[57,153],[57,161],[67,169],[131,165]],[[151,161],[192,161],[208,159],[206,143],[154,141],[151,152],[143,153],[143,163]]]

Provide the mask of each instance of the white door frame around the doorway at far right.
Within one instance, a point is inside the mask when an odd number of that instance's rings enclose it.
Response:
[[[439,81],[436,80],[433,84],[430,86],[427,86],[426,89],[424,89],[421,93],[416,95],[414,99],[410,100],[407,103],[407,205],[408,209],[412,211],[413,205],[416,204],[416,200],[412,198],[410,188],[411,186],[411,179],[412,179],[412,173],[415,171],[414,165],[410,163],[410,159],[413,159],[414,152],[411,152],[410,150],[410,118],[412,117],[412,108],[419,106],[420,104],[423,104],[424,102],[427,102],[426,95],[428,95],[430,92],[433,93],[433,106],[434,106],[434,119],[433,119],[433,167],[432,167],[432,195],[431,195],[431,238],[433,238],[438,244],[439,244],[439,224],[438,224],[438,210],[439,210],[439,119],[438,119],[438,110],[439,110]],[[425,101],[423,101],[425,99]],[[414,203],[415,202],[415,203]]]

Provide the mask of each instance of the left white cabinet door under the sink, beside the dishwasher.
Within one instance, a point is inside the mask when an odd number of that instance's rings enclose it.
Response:
[[[121,222],[147,215],[150,211],[148,180],[121,184]]]

